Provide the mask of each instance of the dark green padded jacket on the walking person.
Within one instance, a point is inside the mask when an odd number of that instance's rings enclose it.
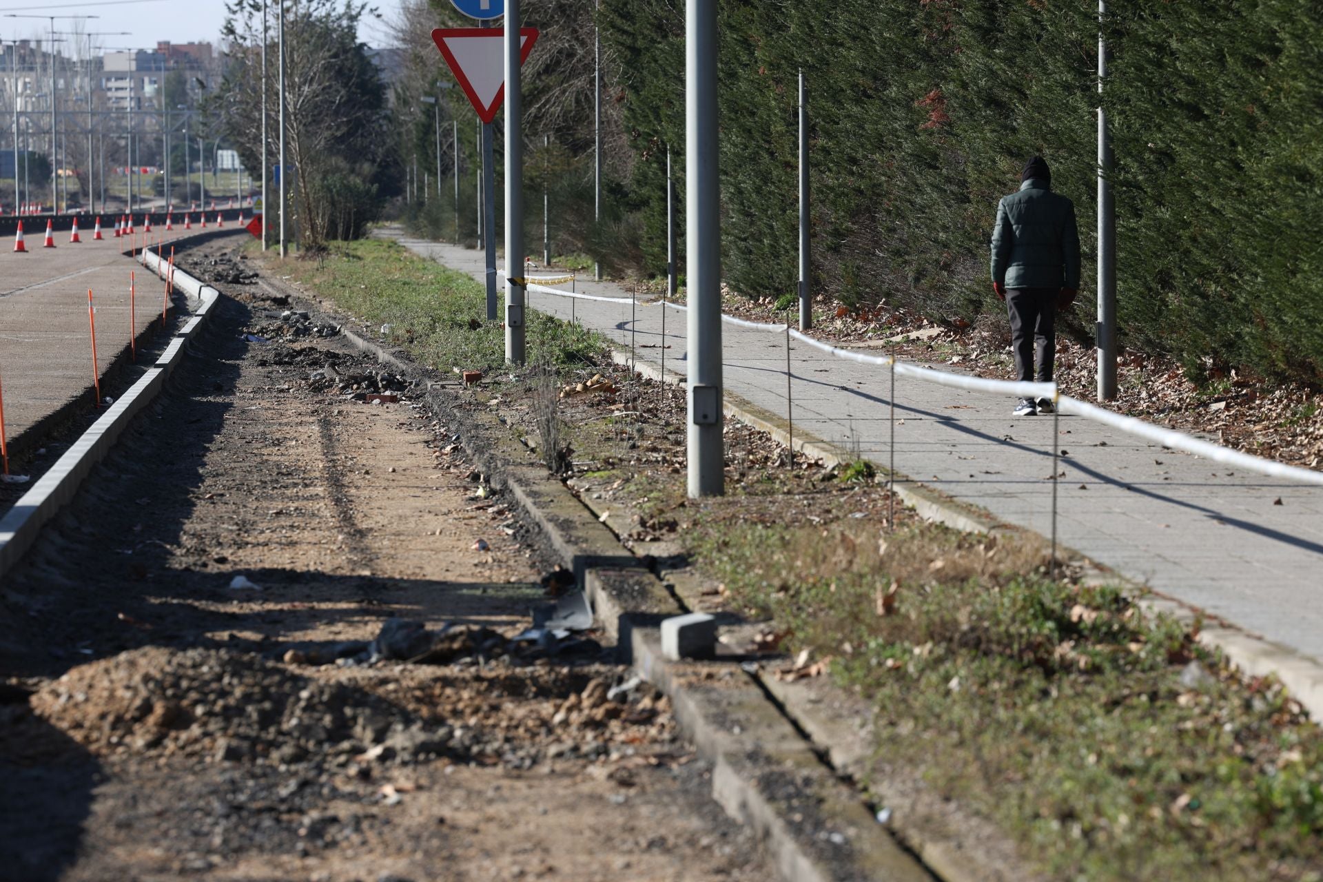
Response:
[[[1080,288],[1074,204],[1031,177],[1002,198],[992,230],[992,280],[1007,288]]]

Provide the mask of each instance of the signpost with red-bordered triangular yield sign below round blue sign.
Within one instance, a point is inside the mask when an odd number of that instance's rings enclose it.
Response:
[[[500,0],[454,0],[454,3],[464,15],[471,15],[470,8],[472,8],[484,12],[484,17],[495,17],[486,15],[490,9],[479,9],[483,3],[488,3],[492,8],[500,5],[504,11],[504,3]],[[431,32],[433,42],[437,44],[437,49],[455,75],[455,82],[468,95],[468,102],[483,123],[482,238],[487,246],[487,317],[491,320],[500,316],[496,305],[496,168],[492,157],[492,122],[505,98],[505,60],[501,53],[504,33],[504,29],[499,28],[437,28]],[[523,63],[537,42],[537,29],[521,28],[519,34],[519,56]],[[512,141],[512,136],[507,132],[507,153]]]

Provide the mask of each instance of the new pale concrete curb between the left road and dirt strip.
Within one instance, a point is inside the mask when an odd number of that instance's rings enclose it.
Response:
[[[194,317],[175,333],[175,339],[165,346],[155,366],[148,368],[147,373],[130,386],[0,518],[0,578],[32,547],[41,528],[73,499],[93,465],[105,459],[138,411],[161,390],[183,360],[188,341],[200,333],[212,307],[220,300],[221,295],[216,288],[204,286],[181,270],[176,270],[175,275],[177,282],[181,280],[180,276],[185,276],[189,286],[197,291],[201,304]]]

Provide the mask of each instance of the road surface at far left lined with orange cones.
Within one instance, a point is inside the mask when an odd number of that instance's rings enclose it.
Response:
[[[196,216],[193,220],[189,233],[183,223],[169,233],[160,225],[152,227],[151,242],[159,238],[169,243],[198,233]],[[33,227],[40,231],[24,233],[26,254],[16,254],[12,242],[0,243],[0,390],[11,439],[79,395],[91,402],[89,288],[97,308],[102,376],[128,348],[130,274],[136,271],[138,279],[134,335],[160,316],[165,294],[164,282],[124,257],[130,241],[114,238],[114,220],[108,229],[102,227],[106,238],[101,242],[93,241],[90,229],[79,229],[82,243],[70,243],[66,227],[54,234],[54,249],[42,247],[45,221]],[[144,239],[139,226],[134,245],[142,249]]]

